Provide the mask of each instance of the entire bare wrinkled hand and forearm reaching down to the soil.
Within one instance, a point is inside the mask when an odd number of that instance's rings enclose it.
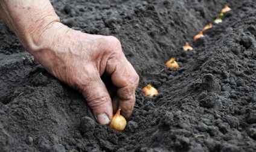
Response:
[[[68,28],[48,0],[1,0],[0,17],[47,71],[83,94],[98,123],[109,124],[118,106],[129,119],[139,76],[117,38]],[[117,87],[114,98],[103,73]]]

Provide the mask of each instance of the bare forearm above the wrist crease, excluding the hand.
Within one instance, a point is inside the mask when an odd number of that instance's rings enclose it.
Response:
[[[48,0],[1,0],[0,17],[32,54],[38,50],[40,35],[60,22]]]

